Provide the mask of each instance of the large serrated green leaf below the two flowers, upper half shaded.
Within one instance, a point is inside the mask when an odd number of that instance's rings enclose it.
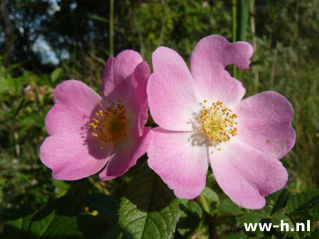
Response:
[[[125,190],[118,214],[125,238],[170,238],[179,216],[179,200],[143,164]]]

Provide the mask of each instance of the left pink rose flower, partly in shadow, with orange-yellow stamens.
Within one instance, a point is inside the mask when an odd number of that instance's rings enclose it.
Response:
[[[102,97],[81,81],[55,88],[47,113],[48,136],[40,159],[60,180],[78,180],[101,171],[101,180],[123,175],[150,142],[147,79],[150,69],[138,52],[125,50],[106,62]]]

